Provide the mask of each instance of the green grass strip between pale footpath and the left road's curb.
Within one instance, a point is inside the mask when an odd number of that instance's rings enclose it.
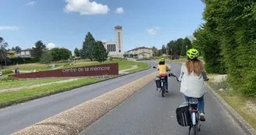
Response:
[[[84,87],[91,83],[97,83],[105,79],[82,78],[68,83],[55,83],[44,87],[34,89],[23,89],[20,91],[4,92],[0,94],[0,108],[15,105],[24,101],[31,101],[37,98],[43,98],[52,94],[58,94],[63,91],[70,91],[77,87]]]

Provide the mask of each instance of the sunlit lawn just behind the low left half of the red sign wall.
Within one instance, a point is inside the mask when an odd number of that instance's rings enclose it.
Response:
[[[55,64],[55,63],[53,63]],[[30,71],[31,69],[37,69],[37,71],[39,69],[41,69],[41,71],[45,71],[45,70],[49,70],[51,69],[52,65],[50,65],[49,67],[46,66],[45,64],[38,64],[38,63],[30,63],[30,64],[20,64],[19,65],[19,69],[20,70],[27,70],[27,71]],[[58,67],[58,66],[62,66],[62,63],[58,63],[58,64],[55,64],[55,68]],[[16,66],[4,66],[5,69],[16,69]]]

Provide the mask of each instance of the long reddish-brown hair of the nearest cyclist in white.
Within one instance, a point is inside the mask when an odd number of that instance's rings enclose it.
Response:
[[[204,64],[199,59],[188,59],[186,62],[186,67],[188,74],[194,71],[194,75],[199,76],[202,69],[204,69]]]

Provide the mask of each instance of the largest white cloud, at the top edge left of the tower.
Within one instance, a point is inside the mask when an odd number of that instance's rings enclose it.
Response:
[[[102,5],[90,0],[66,0],[65,12],[80,12],[80,15],[107,14],[108,5]]]

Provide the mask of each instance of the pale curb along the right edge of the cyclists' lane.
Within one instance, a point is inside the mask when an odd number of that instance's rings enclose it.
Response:
[[[244,120],[242,116],[240,116],[226,101],[224,101],[219,96],[219,94],[217,94],[215,90],[213,90],[212,87],[208,85],[208,83],[205,84],[208,87],[208,90],[210,90],[210,93],[213,94],[213,96],[219,101],[223,108],[225,108],[226,111],[229,112],[229,115],[231,115],[232,118],[236,121],[236,123],[239,124],[242,130],[244,130],[244,132],[247,133],[248,135],[255,135],[256,130],[254,130],[254,128],[249,123],[247,123],[247,121]]]

